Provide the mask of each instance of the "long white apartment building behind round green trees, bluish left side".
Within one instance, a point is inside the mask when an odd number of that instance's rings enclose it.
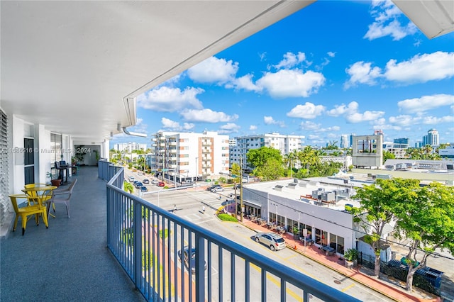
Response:
[[[282,135],[279,133],[238,136],[235,138],[236,145],[230,146],[230,165],[240,164],[240,160],[243,160],[243,169],[248,169],[246,154],[249,150],[273,147],[279,150],[282,155],[286,155],[293,150],[300,150],[304,138],[304,135]]]

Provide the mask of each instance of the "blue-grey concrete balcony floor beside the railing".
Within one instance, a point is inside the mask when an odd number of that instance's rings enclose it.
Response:
[[[70,201],[49,228],[28,220],[1,240],[0,301],[145,301],[106,247],[106,182],[81,167]],[[16,192],[20,194],[21,192]]]

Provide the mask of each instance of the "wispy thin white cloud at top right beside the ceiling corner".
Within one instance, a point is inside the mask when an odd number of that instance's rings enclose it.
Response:
[[[402,18],[402,22],[409,22],[406,25],[397,20],[402,12],[391,1],[372,1],[372,6],[371,15],[375,17],[375,22],[369,26],[363,38],[375,40],[389,35],[395,41],[416,33],[416,26],[407,18]]]

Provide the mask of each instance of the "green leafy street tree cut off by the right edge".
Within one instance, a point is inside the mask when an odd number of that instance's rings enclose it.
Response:
[[[427,257],[437,248],[454,255],[454,187],[433,182],[415,187],[402,211],[397,211],[399,235],[411,240],[406,255],[409,272],[406,290],[413,288],[414,273],[426,267]]]

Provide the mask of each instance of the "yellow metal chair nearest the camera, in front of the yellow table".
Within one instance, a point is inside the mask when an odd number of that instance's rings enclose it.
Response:
[[[17,221],[19,216],[22,218],[22,235],[26,233],[26,226],[28,221],[28,216],[35,215],[36,225],[40,224],[39,216],[43,216],[43,221],[45,224],[45,228],[49,228],[48,225],[48,216],[46,213],[46,207],[43,206],[41,203],[23,206],[19,208],[18,206],[18,199],[26,199],[30,202],[30,196],[25,194],[15,194],[10,195],[9,198],[11,199],[11,203],[13,203],[14,212],[16,212],[16,218],[14,218],[14,227],[13,231],[16,230]]]

